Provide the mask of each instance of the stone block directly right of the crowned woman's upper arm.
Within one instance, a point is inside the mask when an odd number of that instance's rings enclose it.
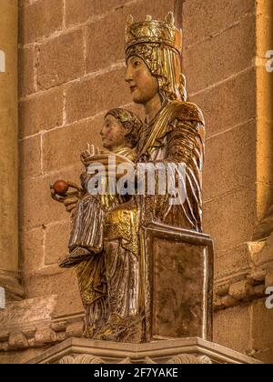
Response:
[[[206,142],[205,200],[227,194],[257,179],[256,122],[251,121]]]

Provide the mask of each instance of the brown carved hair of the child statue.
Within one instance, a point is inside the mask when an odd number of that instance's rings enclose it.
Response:
[[[106,116],[114,116],[126,129],[126,140],[130,148],[136,146],[140,130],[143,126],[141,119],[135,113],[126,109],[116,108],[109,110]],[[105,118],[106,118],[105,116]]]

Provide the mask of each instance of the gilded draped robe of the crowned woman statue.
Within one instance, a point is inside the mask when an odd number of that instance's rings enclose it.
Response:
[[[136,147],[138,162],[160,162],[166,166],[167,163],[184,163],[187,196],[183,205],[175,206],[169,204],[167,195],[136,196],[106,214],[105,259],[110,318],[103,330],[103,338],[111,339],[112,332],[118,340],[142,341],[141,333],[137,334],[145,319],[142,297],[145,275],[140,245],[142,227],[156,222],[202,231],[204,141],[202,112],[187,102],[168,102],[144,127]]]

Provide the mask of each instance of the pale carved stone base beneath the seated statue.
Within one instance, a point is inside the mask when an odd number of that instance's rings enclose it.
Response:
[[[69,338],[28,364],[260,364],[198,337],[125,344]]]

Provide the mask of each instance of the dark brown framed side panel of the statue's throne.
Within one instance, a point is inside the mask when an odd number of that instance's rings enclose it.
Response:
[[[149,226],[144,237],[147,341],[212,340],[213,242],[163,225]]]

